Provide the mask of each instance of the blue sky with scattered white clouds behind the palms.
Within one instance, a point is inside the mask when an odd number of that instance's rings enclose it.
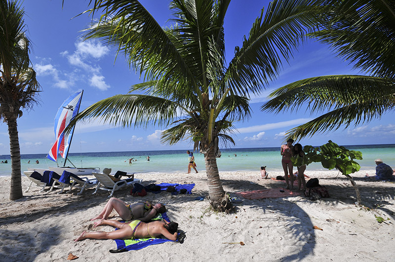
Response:
[[[165,26],[171,13],[167,0],[142,0],[144,6]],[[241,45],[252,23],[267,0],[231,2],[225,18],[227,61],[231,61],[235,46]],[[130,85],[142,82],[139,75],[130,71],[122,55],[115,61],[115,50],[99,41],[81,42],[80,30],[91,17],[83,14],[89,0],[25,0],[25,23],[32,41],[31,60],[42,87],[40,105],[24,112],[18,119],[19,142],[22,154],[47,153],[55,136],[53,120],[63,101],[74,92],[84,90],[81,110],[104,98],[126,94]],[[73,18],[75,17],[75,18]],[[73,19],[72,19],[73,18]],[[328,46],[315,41],[305,43],[295,53],[289,65],[266,91],[252,97],[253,110],[249,120],[237,122],[233,136],[237,148],[279,147],[285,131],[305,123],[314,116],[309,112],[261,112],[267,95],[275,88],[290,82],[319,75],[359,74],[330,52]],[[319,146],[329,139],[340,145],[395,144],[394,114],[386,113],[381,119],[368,124],[351,126],[328,134],[304,139],[302,145]],[[169,147],[159,141],[164,127],[148,129],[122,129],[101,123],[83,123],[76,127],[70,152],[176,150],[191,149],[192,144],[181,142]],[[0,125],[0,154],[9,154],[7,125]]]

